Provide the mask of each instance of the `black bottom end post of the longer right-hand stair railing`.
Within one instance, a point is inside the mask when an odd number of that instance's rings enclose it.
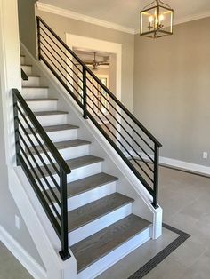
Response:
[[[159,147],[155,143],[155,153],[154,153],[154,195],[153,195],[153,203],[155,209],[158,208],[158,180],[159,180]]]

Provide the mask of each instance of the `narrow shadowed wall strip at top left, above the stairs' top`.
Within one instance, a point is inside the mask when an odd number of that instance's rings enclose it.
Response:
[[[36,57],[36,0],[18,0],[20,40]]]

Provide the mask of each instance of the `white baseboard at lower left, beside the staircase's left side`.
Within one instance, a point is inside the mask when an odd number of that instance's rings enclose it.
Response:
[[[2,226],[0,226],[0,241],[4,243],[6,248],[12,252],[13,256],[20,261],[20,264],[25,267],[28,273],[35,279],[47,278],[44,268],[41,267]]]

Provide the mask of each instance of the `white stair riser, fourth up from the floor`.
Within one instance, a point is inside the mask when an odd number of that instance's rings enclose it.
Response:
[[[69,173],[67,176],[67,182],[69,183],[78,179],[85,179],[85,177],[100,173],[101,171],[102,171],[102,162],[92,163],[84,167],[72,170],[71,173]],[[53,178],[57,181],[58,184],[60,184],[60,179],[57,174],[54,174]],[[46,177],[46,179],[49,181],[51,187],[55,187],[54,183],[52,182],[52,179],[50,179],[48,176]],[[47,188],[44,179],[41,179],[41,182],[43,183],[44,187]]]

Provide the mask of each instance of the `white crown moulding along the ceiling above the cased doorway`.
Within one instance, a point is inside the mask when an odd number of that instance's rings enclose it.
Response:
[[[72,19],[72,20],[80,20],[80,21],[84,21],[87,23],[91,23],[94,25],[98,25],[101,26],[103,28],[110,28],[110,29],[114,29],[120,32],[125,32],[128,34],[134,34],[134,29],[133,28],[127,28],[125,26],[113,23],[113,22],[109,22],[106,20],[100,20],[100,19],[96,19],[90,16],[86,16],[85,14],[81,14],[81,13],[77,13],[77,12],[71,12],[67,9],[61,9],[59,7],[55,7],[53,5],[50,4],[44,4],[44,3],[40,3],[37,2],[36,6],[38,8],[39,11],[43,11],[43,12],[51,12],[54,14],[58,14],[61,15],[63,17]]]

